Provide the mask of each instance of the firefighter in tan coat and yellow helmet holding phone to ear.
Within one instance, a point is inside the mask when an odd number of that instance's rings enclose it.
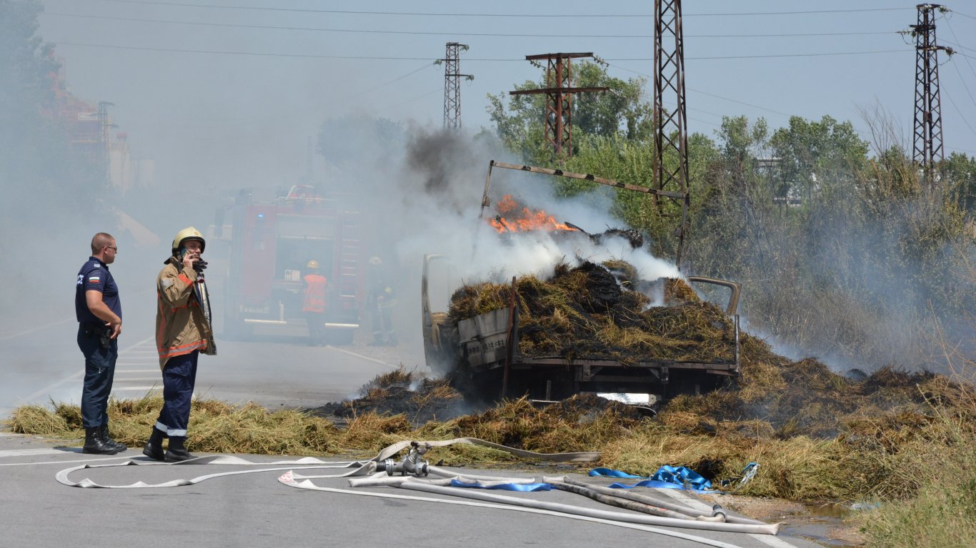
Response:
[[[200,353],[217,354],[211,324],[210,294],[204,281],[207,242],[188,226],[173,238],[172,255],[156,278],[156,348],[163,372],[163,409],[142,454],[154,460],[193,458],[185,448],[190,401]],[[170,444],[163,452],[163,439]]]

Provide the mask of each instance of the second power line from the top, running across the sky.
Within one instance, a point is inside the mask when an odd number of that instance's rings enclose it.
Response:
[[[408,34],[408,35],[428,35],[428,36],[489,36],[504,38],[654,38],[653,34],[524,34],[524,33],[503,33],[503,32],[435,32],[421,30],[371,30],[356,28],[328,28],[316,26],[280,26],[271,24],[239,24],[229,22],[203,22],[190,20],[154,20],[143,18],[122,18],[112,16],[88,16],[82,14],[62,14],[59,12],[42,12],[46,16],[57,16],[64,18],[79,18],[90,20],[122,20],[130,22],[152,22],[165,24],[187,24],[194,26],[215,26],[224,28],[254,28],[263,30],[303,30],[311,32],[348,32],[362,34]],[[688,34],[688,38],[797,38],[812,36],[863,36],[878,34],[896,34],[894,31],[865,31],[865,32],[808,32],[793,34]]]

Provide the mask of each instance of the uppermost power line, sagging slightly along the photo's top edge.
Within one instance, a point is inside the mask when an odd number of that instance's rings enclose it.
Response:
[[[424,16],[424,17],[456,17],[456,18],[653,18],[654,14],[447,14],[442,12],[369,12],[352,10],[311,10],[300,8],[266,8],[255,6],[221,6],[216,4],[187,4],[184,2],[158,2],[154,0],[102,0],[120,4],[148,4],[154,6],[180,6],[183,8],[211,8],[216,10],[255,10],[263,12],[296,12],[312,14],[346,14],[363,16]],[[752,12],[725,14],[687,14],[683,17],[733,17],[733,16],[786,16],[809,14],[842,14],[854,12],[893,12],[910,10],[912,8],[873,8],[853,10],[808,10],[800,12]],[[960,14],[961,15],[961,14]],[[966,16],[968,17],[968,16]]]

